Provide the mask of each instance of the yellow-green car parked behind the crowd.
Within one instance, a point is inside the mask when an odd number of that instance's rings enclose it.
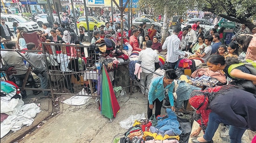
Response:
[[[101,25],[105,26],[105,22],[100,21],[99,19],[96,19],[93,16],[88,16],[88,22],[89,22],[89,30],[93,31],[94,25],[97,25],[97,27],[100,27]],[[86,31],[87,30],[87,23],[86,23],[86,17],[81,16],[77,19],[77,28],[82,26],[82,28]]]

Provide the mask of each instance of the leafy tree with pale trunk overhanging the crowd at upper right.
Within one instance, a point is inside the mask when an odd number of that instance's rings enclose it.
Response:
[[[153,10],[154,15],[164,13],[164,18],[186,15],[188,9],[212,12],[237,23],[245,23],[251,30],[256,19],[256,0],[139,0],[141,11]],[[168,20],[166,21],[168,25]],[[166,30],[163,30],[164,33]],[[165,34],[162,34],[162,36]],[[162,37],[162,40],[165,37]]]

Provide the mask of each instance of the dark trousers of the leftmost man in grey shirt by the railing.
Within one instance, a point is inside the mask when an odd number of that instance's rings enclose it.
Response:
[[[15,83],[18,87],[20,87],[20,94],[21,96],[27,96],[27,92],[26,90],[21,90],[21,87],[23,85],[24,79],[25,79],[26,74],[23,75],[13,75],[14,79],[15,79]],[[32,88],[35,88],[35,81],[33,76],[31,75],[31,73],[29,73],[28,77],[27,77],[27,81],[29,82],[29,85]],[[27,82],[25,81],[25,82]],[[36,90],[33,90],[33,93],[36,93]]]

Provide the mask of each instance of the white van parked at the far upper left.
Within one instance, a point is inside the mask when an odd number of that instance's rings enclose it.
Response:
[[[25,32],[35,31],[39,28],[36,22],[30,19],[14,14],[1,14],[1,19],[5,19],[5,24],[8,25],[9,29],[13,31],[13,22],[16,21],[19,27],[22,27]]]

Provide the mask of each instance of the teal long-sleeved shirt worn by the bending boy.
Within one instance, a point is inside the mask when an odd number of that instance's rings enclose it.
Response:
[[[165,97],[164,91],[168,89],[170,104],[171,106],[174,106],[173,88],[174,88],[174,82],[167,85],[165,88],[163,87],[163,76],[159,76],[152,79],[149,86],[149,91],[148,91],[149,104],[153,104],[153,101],[155,99],[159,99],[159,101],[162,101]]]

